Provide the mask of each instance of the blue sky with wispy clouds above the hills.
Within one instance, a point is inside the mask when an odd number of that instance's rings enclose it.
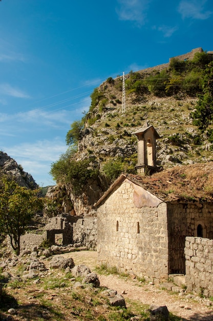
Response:
[[[108,77],[213,50],[212,0],[2,0],[0,150],[53,185],[70,124]]]

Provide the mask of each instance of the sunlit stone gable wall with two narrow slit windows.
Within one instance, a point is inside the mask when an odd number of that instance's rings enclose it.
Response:
[[[157,283],[168,277],[166,204],[138,208],[134,193],[126,179],[97,209],[98,262]]]

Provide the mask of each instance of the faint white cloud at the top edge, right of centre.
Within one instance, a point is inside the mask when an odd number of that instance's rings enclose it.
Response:
[[[144,25],[146,11],[151,0],[118,0],[120,8],[116,10],[119,19],[133,21],[137,26]]]

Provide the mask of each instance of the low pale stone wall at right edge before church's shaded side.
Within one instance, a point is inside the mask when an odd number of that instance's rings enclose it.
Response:
[[[213,296],[213,239],[186,237],[185,258],[187,290]]]

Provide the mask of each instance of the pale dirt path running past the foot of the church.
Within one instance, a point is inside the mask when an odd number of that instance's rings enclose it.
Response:
[[[95,251],[80,251],[63,254],[72,257],[75,265],[83,264],[94,270],[97,266],[97,253]],[[164,306],[169,312],[182,317],[184,320],[213,321],[213,308],[207,306],[207,300],[197,300],[186,296],[179,296],[172,292],[159,289],[155,285],[140,284],[137,280],[124,279],[118,275],[98,274],[100,285],[117,290],[124,298],[137,300],[141,304]]]

